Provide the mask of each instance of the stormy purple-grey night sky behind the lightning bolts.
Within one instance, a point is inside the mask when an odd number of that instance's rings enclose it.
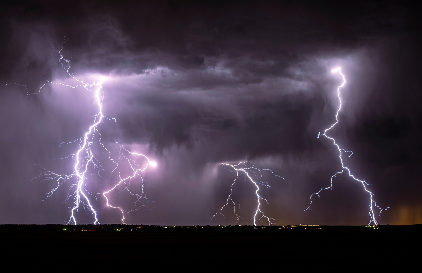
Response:
[[[315,2],[315,3],[314,3]],[[379,224],[422,223],[421,38],[418,9],[402,1],[103,1],[16,2],[0,11],[0,223],[62,224],[71,183],[47,197],[57,181],[40,170],[70,174],[77,144],[97,114],[92,92],[75,86],[60,65],[86,82],[103,78],[102,143],[120,143],[157,162],[144,174],[147,206],[125,214],[128,224],[236,224],[226,203],[233,169],[245,162],[271,169],[261,206],[278,225],[365,225],[369,195],[341,171],[329,135],[352,157],[381,208]],[[112,164],[100,147],[103,180],[90,166],[90,192],[110,189]],[[64,159],[55,159],[62,158]],[[142,163],[142,161],[141,161]],[[125,165],[127,167],[127,164]],[[130,187],[141,192],[140,178]],[[257,198],[239,174],[233,187],[238,224],[253,224]],[[92,195],[100,223],[121,214]],[[44,201],[43,201],[44,200]],[[93,201],[94,202],[94,201]],[[129,211],[133,196],[113,204]],[[241,211],[239,210],[241,209]],[[92,223],[81,207],[78,223]],[[268,224],[268,222],[257,222]]]

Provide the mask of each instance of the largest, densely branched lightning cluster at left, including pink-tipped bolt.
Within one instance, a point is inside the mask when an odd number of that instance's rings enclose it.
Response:
[[[67,142],[67,143],[64,142],[64,143],[60,144],[60,146],[62,144],[70,144],[70,143],[78,143],[79,144],[79,149],[75,153],[70,154],[67,157],[61,158],[61,159],[64,159],[64,158],[72,157],[72,158],[75,159],[75,165],[73,166],[73,173],[68,174],[68,175],[58,174],[58,173],[51,172],[51,171],[49,171],[49,170],[47,170],[47,169],[45,169],[41,166],[42,171],[40,173],[38,173],[38,176],[32,178],[30,181],[35,180],[35,179],[37,179],[37,180],[42,179],[42,181],[47,181],[47,180],[56,180],[57,181],[57,186],[54,187],[53,189],[51,189],[51,191],[47,193],[47,197],[44,200],[46,200],[51,195],[53,195],[53,193],[57,189],[59,189],[59,187],[62,186],[62,184],[70,181],[70,186],[69,186],[70,189],[69,189],[69,192],[68,192],[68,196],[65,198],[65,201],[64,201],[64,202],[66,202],[66,201],[71,200],[73,198],[72,205],[68,208],[68,210],[70,211],[70,217],[69,217],[69,220],[68,220],[68,224],[77,224],[76,214],[78,213],[78,210],[81,206],[85,209],[86,212],[90,212],[92,214],[93,219],[94,219],[93,220],[94,224],[100,224],[100,222],[98,221],[98,213],[99,213],[100,209],[94,208],[92,203],[93,203],[93,200],[98,201],[97,197],[101,197],[101,196],[103,196],[106,200],[104,208],[108,207],[108,208],[118,209],[122,214],[122,223],[125,224],[124,223],[124,219],[125,219],[124,214],[125,213],[129,213],[131,211],[138,210],[141,207],[149,208],[149,203],[152,203],[152,201],[149,200],[146,197],[145,193],[143,192],[144,179],[142,178],[142,174],[148,166],[155,167],[157,165],[157,163],[154,162],[154,161],[151,161],[144,154],[128,151],[127,149],[125,149],[122,145],[120,145],[116,141],[115,141],[115,144],[116,144],[116,147],[117,147],[118,156],[117,156],[116,159],[111,158],[111,152],[101,142],[101,133],[98,130],[98,125],[101,124],[101,123],[105,124],[104,123],[105,119],[107,119],[108,121],[114,120],[114,122],[116,122],[116,119],[109,119],[107,116],[104,116],[104,114],[103,114],[102,104],[103,104],[103,100],[105,98],[104,89],[103,89],[103,81],[104,81],[105,77],[101,76],[100,81],[93,82],[92,84],[87,84],[87,83],[84,83],[84,81],[78,80],[73,75],[73,73],[70,73],[69,72],[69,70],[70,70],[70,59],[65,59],[63,57],[62,53],[61,53],[61,51],[63,50],[63,45],[66,43],[66,41],[61,44],[61,46],[62,46],[61,49],[59,51],[57,51],[58,54],[60,55],[59,62],[62,65],[62,67],[66,70],[68,75],[71,78],[73,78],[73,80],[76,81],[76,83],[77,83],[76,86],[70,86],[68,84],[63,84],[63,83],[60,83],[60,82],[48,81],[48,80],[43,78],[45,80],[45,83],[38,89],[38,92],[29,93],[28,89],[25,85],[18,84],[18,83],[8,83],[8,84],[16,84],[16,85],[19,85],[19,86],[24,86],[25,89],[27,90],[27,98],[28,98],[29,95],[40,93],[41,89],[43,89],[43,87],[46,86],[46,84],[59,84],[59,85],[67,86],[67,87],[70,87],[70,88],[82,87],[89,92],[93,92],[94,99],[95,99],[95,102],[96,102],[97,107],[98,107],[98,112],[94,116],[94,122],[92,123],[91,126],[89,126],[89,128],[87,129],[87,131],[85,132],[85,134],[81,138],[78,138],[77,140],[72,141],[72,142]],[[6,85],[8,85],[8,84],[6,84]],[[116,179],[116,181],[114,181],[114,183],[113,183],[114,187],[111,187],[109,189],[105,189],[104,191],[100,191],[100,192],[91,192],[87,189],[87,186],[89,188],[89,182],[90,182],[89,176],[92,175],[92,174],[96,173],[97,176],[99,176],[100,178],[103,179],[103,181],[107,181],[100,174],[104,171],[104,169],[101,166],[99,160],[97,160],[94,156],[94,149],[93,149],[94,143],[99,144],[100,147],[103,149],[103,151],[108,155],[108,159],[111,162],[113,162],[114,169],[111,171],[110,178],[114,174],[116,174],[117,177],[118,177]],[[125,154],[127,154],[127,156]],[[129,154],[136,156],[136,157],[141,157],[143,159],[143,162],[146,162],[146,165],[144,167],[142,167],[141,165],[138,165],[135,162],[135,160],[129,158]],[[131,174],[130,175],[124,175],[120,170],[120,165],[127,164],[127,163],[129,164],[129,166],[131,168]],[[90,168],[93,169],[93,173],[89,172]],[[141,178],[142,192],[139,195],[137,193],[132,192],[129,189],[130,181],[135,177]],[[121,187],[123,187],[123,189]],[[122,191],[127,191],[127,192],[129,192],[130,195],[132,195],[136,198],[133,209],[131,209],[129,211],[125,211],[121,206],[113,205],[113,203],[111,202],[111,199],[116,197],[116,195],[118,194],[117,193],[114,196],[112,195],[112,191],[115,190],[115,189],[119,190],[118,193],[120,193]]]

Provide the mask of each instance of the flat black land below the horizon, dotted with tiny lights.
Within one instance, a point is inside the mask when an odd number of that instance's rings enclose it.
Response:
[[[376,270],[419,263],[422,224],[409,226],[0,225],[3,262],[60,262],[89,268],[357,267]],[[341,266],[342,268],[339,268]],[[368,268],[369,266],[369,268]],[[375,268],[371,268],[375,266]],[[88,269],[88,268],[86,268]]]

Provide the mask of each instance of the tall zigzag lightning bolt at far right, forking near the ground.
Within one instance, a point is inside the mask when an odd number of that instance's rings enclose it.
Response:
[[[372,197],[373,197],[373,193],[372,193],[372,192],[371,192],[371,191],[370,191],[370,190],[366,187],[366,186],[371,185],[371,184],[366,183],[366,182],[365,182],[365,180],[363,180],[363,179],[362,179],[362,180],[360,180],[360,179],[358,179],[358,178],[354,177],[354,176],[352,175],[352,173],[350,172],[350,169],[349,169],[349,168],[347,168],[346,166],[344,166],[343,158],[341,157],[341,156],[343,155],[342,151],[343,151],[343,152],[345,152],[345,153],[350,153],[349,157],[351,157],[351,156],[352,156],[353,152],[352,152],[352,151],[346,151],[346,150],[344,150],[344,149],[341,149],[341,148],[340,148],[340,146],[338,146],[338,144],[337,144],[337,143],[335,143],[335,139],[334,139],[334,138],[331,138],[331,137],[327,136],[327,131],[329,131],[329,130],[333,129],[333,127],[335,126],[335,124],[337,124],[337,123],[338,123],[338,112],[340,112],[340,110],[341,110],[340,88],[341,88],[341,87],[343,87],[343,86],[344,86],[344,84],[346,84],[346,78],[345,78],[345,77],[344,77],[344,75],[341,73],[341,68],[335,68],[335,69],[331,70],[331,73],[339,73],[339,74],[343,77],[343,83],[342,83],[340,86],[338,86],[338,88],[337,88],[337,93],[338,93],[338,94],[337,94],[337,97],[338,97],[338,100],[340,101],[340,106],[338,107],[337,113],[335,114],[335,120],[336,120],[336,122],[335,122],[333,125],[331,125],[331,126],[330,126],[330,128],[325,129],[325,131],[324,131],[324,133],[323,133],[323,134],[318,133],[317,138],[319,138],[320,136],[322,136],[322,135],[323,135],[323,136],[325,136],[326,138],[328,138],[328,139],[330,139],[330,140],[332,140],[332,141],[333,141],[333,144],[337,147],[338,152],[339,152],[339,158],[340,158],[340,162],[341,162],[341,171],[340,171],[340,172],[337,172],[337,173],[335,173],[333,176],[331,176],[330,187],[322,188],[322,189],[320,189],[318,192],[316,192],[316,193],[314,193],[314,194],[312,194],[312,195],[311,195],[311,197],[310,197],[311,202],[309,203],[308,208],[306,208],[306,210],[305,210],[305,211],[307,211],[307,210],[311,210],[312,197],[313,197],[314,195],[317,195],[317,196],[318,196],[318,200],[319,200],[319,193],[320,193],[320,192],[322,192],[322,191],[323,191],[323,190],[325,190],[325,189],[332,189],[332,188],[333,188],[333,177],[337,177],[337,175],[338,175],[338,174],[343,173],[343,171],[344,171],[344,170],[346,170],[346,171],[347,171],[347,174],[349,174],[349,176],[350,176],[350,177],[352,177],[355,181],[357,181],[357,182],[359,182],[360,184],[362,184],[363,189],[364,189],[364,190],[365,190],[365,192],[367,192],[367,193],[368,193],[368,195],[369,195],[369,200],[370,200],[370,203],[369,203],[369,216],[371,216],[371,221],[369,222],[369,225],[370,225],[371,223],[378,225],[378,223],[376,222],[376,219],[375,219],[374,207],[376,207],[376,208],[378,208],[378,209],[379,209],[379,214],[378,214],[378,216],[380,216],[380,217],[381,217],[381,212],[382,212],[382,211],[387,210],[387,209],[388,209],[388,208],[390,208],[390,207],[387,207],[387,208],[385,208],[385,209],[380,208],[380,207],[376,204],[376,202],[373,200],[373,198],[372,198]]]

